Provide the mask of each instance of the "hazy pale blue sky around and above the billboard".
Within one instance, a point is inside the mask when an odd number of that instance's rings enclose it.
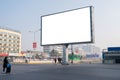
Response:
[[[94,6],[95,43],[101,49],[120,47],[120,0],[0,0],[0,26],[19,30],[22,50],[32,49],[33,33],[40,29],[40,16]],[[35,40],[40,50],[40,32]]]

